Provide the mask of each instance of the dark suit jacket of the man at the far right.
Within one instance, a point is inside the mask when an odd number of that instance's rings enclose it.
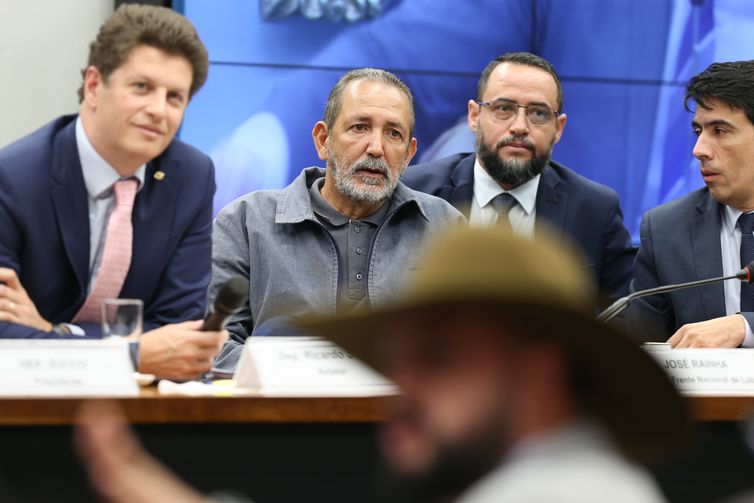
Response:
[[[722,213],[706,188],[648,211],[641,222],[632,290],[723,275]],[[742,313],[754,327],[754,313]],[[687,323],[725,316],[722,282],[635,300],[629,322],[647,340],[666,340]]]

